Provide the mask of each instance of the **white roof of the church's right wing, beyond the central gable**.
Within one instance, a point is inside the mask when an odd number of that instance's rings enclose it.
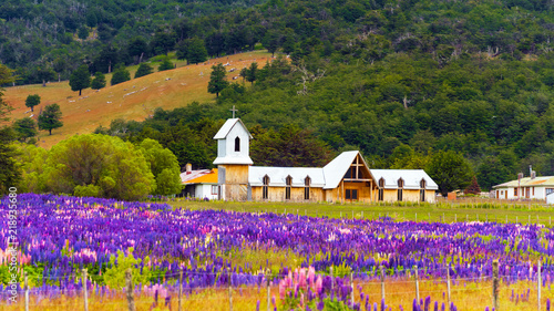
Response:
[[[404,189],[420,189],[421,179],[425,180],[425,189],[438,190],[439,186],[423,169],[370,169],[377,185],[384,179],[384,189],[398,189],[398,179],[404,182]]]

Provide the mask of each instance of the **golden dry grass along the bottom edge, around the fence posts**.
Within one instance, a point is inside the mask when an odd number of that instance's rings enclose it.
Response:
[[[372,305],[375,302],[380,304],[381,301],[381,284],[379,281],[359,282],[355,280],[355,301],[360,302],[360,290],[361,286],[362,292],[369,296],[369,302]],[[526,293],[530,289],[530,300],[519,302],[515,304],[514,301],[510,301],[512,294],[512,289],[515,293]],[[399,280],[386,282],[384,287],[387,304],[392,307],[392,310],[399,310],[401,304],[404,310],[411,310],[412,301],[416,298],[416,286],[412,280]],[[440,304],[444,302],[448,304],[447,284],[444,281],[424,280],[420,281],[420,298],[425,299],[430,296],[432,305],[434,301]],[[458,307],[460,311],[483,311],[485,307],[492,307],[492,283],[491,281],[483,282],[460,282],[459,284],[453,284],[452,290],[452,301]],[[444,293],[444,294],[443,294]],[[270,294],[276,296],[277,305],[279,308],[279,294],[278,288],[271,287]],[[21,297],[22,298],[22,297]],[[554,299],[554,291],[550,290],[548,287],[542,289],[542,310],[545,310],[546,299]],[[258,289],[257,287],[246,288],[243,287],[242,290],[233,290],[233,310],[256,310],[256,302],[260,301],[259,310],[267,310],[267,290],[265,287]],[[136,310],[170,310],[170,308],[164,307],[164,300],[161,298],[158,300],[158,307],[151,309],[154,303],[153,297],[150,296],[137,296],[135,297]],[[81,297],[62,297],[57,299],[42,299],[38,304],[34,298],[31,299],[30,310],[83,310],[83,299]],[[171,299],[172,308],[171,310],[177,310],[177,294],[173,293]],[[365,309],[365,303],[361,310]],[[430,310],[433,310],[431,305]],[[501,282],[500,291],[500,305],[501,310],[505,311],[532,311],[537,310],[537,296],[536,296],[536,284],[532,282],[522,281],[516,284],[504,284]],[[492,308],[491,308],[492,309]],[[23,310],[23,303],[20,300],[18,307],[0,307],[0,310]],[[98,311],[116,311],[116,310],[127,310],[126,299],[122,293],[119,293],[112,298],[98,297],[91,293],[89,300],[89,310]],[[183,310],[202,310],[202,311],[227,311],[229,310],[229,292],[226,288],[209,288],[193,292],[193,294],[183,297]],[[271,308],[273,310],[273,308]],[[448,310],[448,307],[447,307]]]

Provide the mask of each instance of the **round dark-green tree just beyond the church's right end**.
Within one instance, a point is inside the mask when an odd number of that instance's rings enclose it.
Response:
[[[439,185],[439,191],[444,197],[449,191],[464,189],[473,177],[468,160],[453,151],[434,153],[429,162],[427,173]]]

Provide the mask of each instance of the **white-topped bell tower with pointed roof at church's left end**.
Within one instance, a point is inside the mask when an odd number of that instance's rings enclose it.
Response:
[[[239,118],[229,118],[214,136],[217,141],[217,184],[219,198],[244,201],[248,196],[248,167],[252,135]]]

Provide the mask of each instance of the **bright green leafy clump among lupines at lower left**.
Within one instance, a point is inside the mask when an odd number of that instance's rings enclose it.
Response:
[[[150,257],[144,258],[144,267],[141,269],[140,266],[143,261],[141,258],[134,258],[133,251],[134,249],[130,247],[126,256],[122,250],[117,250],[117,258],[113,255],[110,257],[110,268],[104,273],[106,286],[113,289],[123,288],[125,286],[125,272],[129,269],[131,269],[133,284],[146,284],[148,282],[151,269],[147,262]]]

